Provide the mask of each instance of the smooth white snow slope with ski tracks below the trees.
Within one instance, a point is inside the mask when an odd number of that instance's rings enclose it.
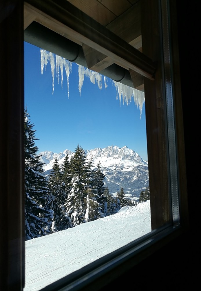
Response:
[[[151,231],[150,201],[25,242],[24,291],[40,290]]]

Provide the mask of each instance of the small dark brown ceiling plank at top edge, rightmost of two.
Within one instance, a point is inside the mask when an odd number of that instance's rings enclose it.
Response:
[[[105,6],[107,9],[112,11],[116,16],[121,15],[124,11],[129,9],[132,4],[127,0],[96,0],[100,2],[103,6]]]

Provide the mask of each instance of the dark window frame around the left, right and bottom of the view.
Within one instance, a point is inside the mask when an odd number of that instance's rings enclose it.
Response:
[[[32,2],[32,1],[29,1]],[[36,1],[37,2],[37,1]],[[40,2],[40,1],[39,1]],[[50,1],[51,2],[51,1]],[[150,3],[151,2],[151,3]],[[167,1],[161,1],[161,3],[168,3]],[[7,218],[7,223],[3,226],[5,233],[4,239],[1,238],[1,248],[5,251],[1,256],[1,266],[3,272],[1,273],[1,287],[3,290],[22,290],[24,285],[24,204],[23,204],[23,1],[14,1],[14,5],[9,5],[9,0],[6,0],[4,8],[4,17],[0,24],[0,36],[4,40],[1,46],[1,55],[5,58],[1,63],[1,129],[2,139],[1,146],[3,155],[1,160],[1,169],[6,165],[6,180],[3,173],[1,173],[1,191],[7,193],[3,197],[1,215],[3,218]],[[146,6],[147,5],[147,6]],[[155,74],[155,80],[145,80],[145,94],[147,100],[150,103],[147,105],[146,100],[146,116],[151,124],[148,125],[147,131],[150,132],[148,143],[148,159],[149,168],[152,172],[155,172],[151,178],[152,189],[151,193],[154,193],[151,198],[153,201],[153,209],[160,210],[161,205],[169,205],[171,195],[169,195],[169,189],[171,188],[171,179],[169,180],[169,170],[171,165],[167,164],[167,155],[169,155],[168,140],[167,140],[167,124],[165,107],[161,106],[162,94],[164,94],[164,86],[161,86],[161,80],[164,79],[164,67],[163,67],[163,52],[161,50],[162,45],[162,31],[159,36],[154,34],[157,27],[157,31],[160,30],[160,21],[157,15],[161,16],[159,12],[160,1],[147,1],[143,0],[143,7],[149,7],[149,13],[142,8],[142,22],[143,29],[145,29],[144,35],[146,36],[145,43],[143,44],[143,50],[152,60],[157,62],[157,71]],[[148,9],[147,9],[148,10]],[[173,1],[167,7],[168,15],[170,19],[174,19],[176,8]],[[160,10],[161,11],[161,10]],[[167,12],[167,11],[166,11]],[[157,15],[156,15],[157,14]],[[143,20],[144,19],[144,20]],[[148,20],[147,20],[148,19]],[[149,31],[147,31],[147,23],[149,23]],[[130,269],[138,262],[142,261],[148,255],[151,255],[156,250],[166,245],[172,239],[178,237],[188,228],[188,211],[187,211],[187,191],[186,191],[186,177],[185,177],[185,159],[184,159],[184,142],[183,142],[183,125],[182,125],[182,106],[181,106],[181,90],[179,85],[178,74],[178,46],[177,36],[175,29],[175,23],[173,20],[169,23],[169,29],[171,29],[171,64],[172,64],[172,77],[173,77],[173,96],[174,96],[174,116],[175,116],[175,130],[176,130],[176,159],[177,159],[177,173],[179,184],[179,198],[180,198],[180,223],[173,223],[171,217],[171,210],[168,209],[168,218],[165,217],[166,226],[158,228],[158,218],[161,217],[161,212],[155,214],[152,223],[156,230],[153,230],[150,234],[134,241],[133,243],[97,260],[96,262],[89,264],[88,266],[70,274],[61,280],[58,280],[51,285],[43,288],[42,290],[94,290],[94,286],[99,288],[106,285],[111,280],[117,278],[127,269]],[[174,29],[173,29],[174,28]],[[151,43],[152,46],[148,46],[146,42]],[[10,57],[13,53],[13,47],[15,48],[15,56]],[[151,49],[149,48],[151,47]],[[147,51],[146,51],[147,50]],[[9,70],[13,66],[15,61],[15,70]],[[8,70],[5,70],[8,68]],[[3,72],[3,74],[2,74]],[[9,81],[12,80],[12,86],[9,86]],[[148,90],[147,90],[147,89]],[[147,93],[146,93],[147,91]],[[150,91],[151,93],[149,94]],[[154,97],[153,97],[154,96]],[[158,100],[159,99],[159,100]],[[159,103],[158,103],[159,102]],[[158,104],[160,106],[158,106]],[[158,113],[158,109],[161,109]],[[149,115],[150,112],[153,115]],[[158,119],[155,119],[157,116]],[[5,125],[6,120],[6,125]],[[154,124],[156,122],[156,124]],[[159,134],[159,142],[156,143],[151,139],[153,130],[158,128],[158,123],[161,125],[161,132]],[[157,125],[157,126],[156,126]],[[163,146],[161,146],[163,145]],[[164,149],[165,145],[165,149]],[[160,153],[159,158],[153,154],[153,150]],[[161,152],[162,150],[162,152]],[[154,158],[153,158],[154,157]],[[166,161],[166,162],[165,162]],[[4,167],[3,167],[4,166]],[[156,173],[165,169],[165,175],[159,175],[159,179],[156,181]],[[150,171],[151,172],[151,171]],[[160,173],[159,173],[160,174]],[[6,181],[6,182],[5,182]],[[162,183],[165,181],[165,185]],[[157,197],[155,193],[162,193],[160,203],[156,204]],[[13,195],[15,193],[15,195]],[[157,211],[156,211],[157,212]],[[164,222],[164,220],[163,220]],[[154,224],[155,223],[155,224]],[[159,226],[164,223],[159,223]],[[104,280],[103,280],[104,278]]]

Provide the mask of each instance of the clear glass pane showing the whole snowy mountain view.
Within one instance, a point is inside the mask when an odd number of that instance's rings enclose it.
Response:
[[[42,51],[42,60],[41,75],[40,49],[25,42],[26,291],[151,231],[145,104],[129,101],[129,87],[64,61],[67,84],[63,58]],[[135,94],[142,100],[140,91]],[[40,161],[47,178],[43,191]],[[148,200],[139,203],[139,197]],[[34,233],[38,221],[41,229]]]

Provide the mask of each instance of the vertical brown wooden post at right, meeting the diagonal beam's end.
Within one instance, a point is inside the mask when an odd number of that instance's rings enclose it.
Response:
[[[142,0],[143,52],[158,63],[155,80],[145,78],[145,110],[152,230],[171,223],[167,165],[166,97],[158,0]]]

